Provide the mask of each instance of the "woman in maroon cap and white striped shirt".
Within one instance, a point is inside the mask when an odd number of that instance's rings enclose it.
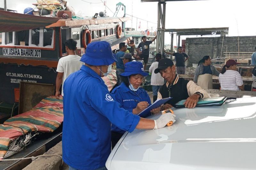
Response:
[[[221,90],[242,90],[244,91],[244,83],[241,75],[236,71],[235,60],[229,59],[226,64],[223,66],[220,75],[219,82]],[[227,68],[227,69],[226,69]]]

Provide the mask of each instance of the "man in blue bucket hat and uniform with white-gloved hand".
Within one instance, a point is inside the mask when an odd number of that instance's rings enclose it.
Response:
[[[85,64],[66,79],[63,87],[63,161],[69,169],[106,169],[111,123],[132,132],[135,128],[163,128],[174,117],[166,113],[156,120],[141,118],[112,98],[101,78],[108,65],[116,61],[107,41],[89,43],[81,61]]]

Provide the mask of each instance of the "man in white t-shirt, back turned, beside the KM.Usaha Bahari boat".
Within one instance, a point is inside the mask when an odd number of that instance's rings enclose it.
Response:
[[[61,95],[63,94],[63,83],[68,78],[68,76],[79,70],[82,65],[84,65],[83,62],[80,62],[81,57],[79,55],[76,55],[76,44],[77,42],[73,39],[68,39],[65,42],[66,51],[68,53],[67,56],[61,57],[58,66],[57,66],[57,78],[56,78],[56,93],[55,97],[56,99],[59,99],[60,97],[60,85],[62,84],[62,90]]]

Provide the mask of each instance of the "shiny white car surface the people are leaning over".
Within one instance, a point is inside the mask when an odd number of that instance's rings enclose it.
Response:
[[[172,126],[126,132],[108,170],[256,169],[256,97],[173,111]]]

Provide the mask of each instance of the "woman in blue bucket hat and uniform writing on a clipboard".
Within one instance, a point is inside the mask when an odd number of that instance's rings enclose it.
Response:
[[[148,76],[148,73],[144,72],[142,63],[132,61],[124,65],[124,73],[121,76],[123,82],[112,91],[112,96],[115,101],[120,103],[122,108],[137,115],[151,105],[148,93],[140,87],[143,78]],[[158,113],[159,111],[160,107],[151,110],[152,113]],[[115,124],[111,125],[112,148],[124,132],[125,130],[119,129]]]

